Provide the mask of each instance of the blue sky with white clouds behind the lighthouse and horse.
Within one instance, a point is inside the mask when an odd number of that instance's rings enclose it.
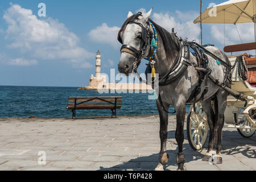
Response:
[[[203,10],[210,3],[203,0]],[[46,16],[39,16],[39,3],[46,5]],[[88,86],[95,75],[95,56],[101,52],[101,72],[118,73],[117,32],[128,11],[146,13],[151,19],[178,36],[200,40],[200,0],[158,1],[0,1],[0,85],[14,86]],[[41,12],[42,13],[42,12]],[[253,23],[237,24],[242,43],[254,42]],[[203,44],[223,49],[241,43],[236,27],[203,24]],[[146,60],[138,69],[144,72]]]

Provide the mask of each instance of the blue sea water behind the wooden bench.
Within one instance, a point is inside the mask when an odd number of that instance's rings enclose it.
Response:
[[[158,114],[155,100],[148,100],[144,93],[103,93],[92,90],[77,90],[75,87],[49,86],[0,86],[0,118],[6,117],[72,117],[67,110],[71,96],[123,96],[117,115]],[[170,107],[170,111],[174,111]],[[188,107],[187,107],[188,110]],[[77,110],[79,116],[111,115],[108,109]]]

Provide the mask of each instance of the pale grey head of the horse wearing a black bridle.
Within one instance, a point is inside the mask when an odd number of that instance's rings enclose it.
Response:
[[[144,15],[133,15],[129,11],[127,20],[118,32],[118,41],[122,44],[118,71],[126,76],[137,69],[141,59],[150,52],[150,28],[147,22],[151,12],[152,8]]]

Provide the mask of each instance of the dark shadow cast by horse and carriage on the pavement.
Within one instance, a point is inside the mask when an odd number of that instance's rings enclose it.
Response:
[[[176,148],[175,150],[167,150],[167,153],[169,155],[169,160],[166,166],[164,166],[164,170],[176,170],[177,164],[176,164],[176,153],[177,153],[177,143],[175,140],[175,131],[168,131],[168,144],[171,144],[172,148]],[[247,156],[248,158],[256,158],[256,152],[255,152],[255,144],[256,144],[256,136],[249,138],[243,138],[238,134],[237,131],[228,131],[225,130],[222,133],[222,154],[224,155],[233,155],[237,153],[241,153],[244,156]],[[236,139],[238,140],[236,142]],[[249,144],[246,144],[249,143]],[[168,146],[167,144],[167,146]],[[200,160],[203,159],[204,153],[207,150],[207,142],[204,145],[203,150],[195,151],[193,150],[187,140],[187,132],[184,130],[184,144],[183,144],[183,151],[185,154],[185,162],[191,162],[193,160]],[[251,146],[253,148],[251,148]],[[160,143],[159,143],[160,148]],[[170,148],[170,147],[167,147]],[[203,152],[204,151],[204,152]],[[155,167],[159,163],[159,152],[155,154],[151,154],[149,156],[138,156],[137,158],[130,159],[127,162],[123,162],[122,164],[115,165],[113,167],[100,167],[99,170],[106,170],[106,171],[129,171],[129,170],[135,170],[135,171],[144,171],[144,170],[154,170]]]

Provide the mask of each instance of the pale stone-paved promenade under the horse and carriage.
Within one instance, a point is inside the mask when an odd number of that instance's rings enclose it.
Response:
[[[177,168],[175,128],[175,116],[170,116],[166,170]],[[206,150],[192,150],[185,134],[185,167],[256,170],[256,134],[246,139],[235,129],[224,129],[222,148],[224,163],[210,165],[201,160]],[[154,170],[159,150],[157,115],[0,119],[0,170]],[[43,155],[38,153],[44,152],[46,164],[39,164]]]

